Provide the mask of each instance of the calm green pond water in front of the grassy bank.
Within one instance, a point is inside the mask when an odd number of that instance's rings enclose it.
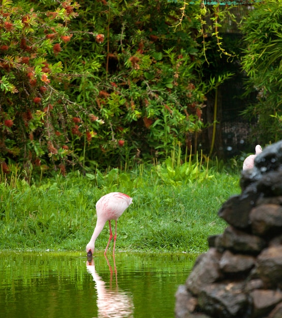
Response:
[[[175,292],[196,255],[0,252],[5,318],[173,318]]]

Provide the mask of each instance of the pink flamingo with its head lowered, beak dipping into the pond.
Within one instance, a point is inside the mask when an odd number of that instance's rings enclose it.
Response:
[[[110,241],[113,238],[111,220],[115,220],[115,235],[114,235],[114,248],[116,241],[116,226],[119,216],[132,204],[132,198],[120,192],[111,192],[100,198],[96,203],[97,223],[94,232],[91,236],[89,243],[86,245],[87,258],[92,258],[93,251],[95,249],[95,241],[101,231],[103,230],[106,221],[109,221],[110,238],[105,249],[104,255],[106,255]]]

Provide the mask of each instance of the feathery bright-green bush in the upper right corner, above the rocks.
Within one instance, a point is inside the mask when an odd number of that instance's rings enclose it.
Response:
[[[248,76],[248,93],[256,91],[257,102],[244,114],[258,118],[254,132],[261,143],[277,141],[281,133],[282,2],[257,2],[243,21],[245,50],[242,68]]]

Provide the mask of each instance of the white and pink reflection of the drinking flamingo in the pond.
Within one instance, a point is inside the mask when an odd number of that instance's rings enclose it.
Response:
[[[92,275],[93,281],[96,282],[98,318],[133,318],[134,304],[132,295],[120,290],[117,285],[115,258],[113,258],[115,272],[114,286],[112,284],[113,270],[106,256],[105,258],[110,269],[109,287],[107,287],[106,282],[97,273],[94,261],[88,259],[86,262],[86,269]]]

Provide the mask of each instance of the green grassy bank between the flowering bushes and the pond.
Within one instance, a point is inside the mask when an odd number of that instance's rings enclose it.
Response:
[[[217,211],[240,192],[238,183],[239,173],[191,162],[175,165],[170,159],[133,171],[74,172],[37,183],[22,175],[9,182],[2,176],[0,246],[84,250],[96,224],[97,200],[118,191],[132,196],[134,204],[118,220],[117,251],[202,252],[207,237],[226,227]],[[97,250],[106,247],[108,235],[106,225]]]

